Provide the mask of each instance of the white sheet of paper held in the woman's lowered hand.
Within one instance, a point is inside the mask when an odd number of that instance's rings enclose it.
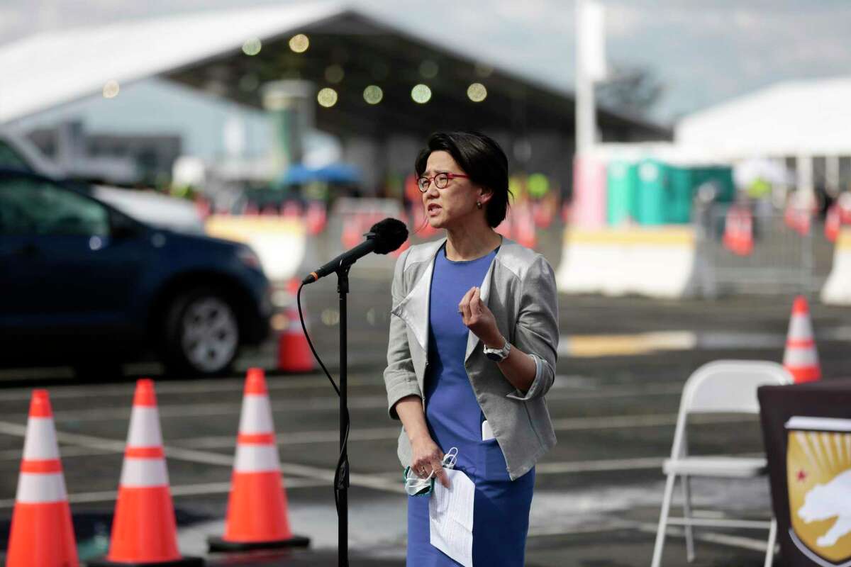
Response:
[[[473,499],[476,485],[465,473],[444,468],[450,482],[435,481],[428,504],[431,545],[464,567],[473,565]]]

